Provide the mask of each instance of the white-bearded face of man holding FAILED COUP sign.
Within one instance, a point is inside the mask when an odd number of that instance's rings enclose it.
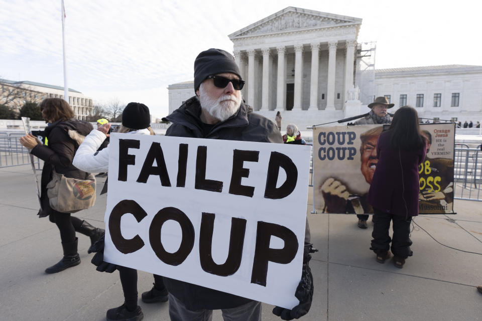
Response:
[[[239,78],[232,73],[221,73],[216,76],[229,79]],[[224,121],[232,116],[241,104],[241,91],[235,90],[230,82],[226,87],[219,88],[214,86],[213,79],[206,79],[196,93],[199,96],[201,107],[219,121]]]

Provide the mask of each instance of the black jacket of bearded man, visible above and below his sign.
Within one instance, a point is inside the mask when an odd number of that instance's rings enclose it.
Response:
[[[172,114],[163,118],[172,122],[166,136],[283,143],[278,126],[268,118],[251,112],[243,103],[236,114],[214,125],[206,136],[202,133],[200,114],[198,99],[190,98]],[[189,310],[232,308],[252,301],[167,277],[164,280],[169,292],[180,299]]]

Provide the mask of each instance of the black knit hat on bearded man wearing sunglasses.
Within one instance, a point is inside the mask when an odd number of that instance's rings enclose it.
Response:
[[[230,53],[214,48],[201,52],[194,60],[194,91],[208,76],[224,72],[233,73],[241,79],[239,68]]]

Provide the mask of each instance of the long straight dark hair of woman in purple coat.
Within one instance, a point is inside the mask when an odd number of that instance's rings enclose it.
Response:
[[[408,150],[425,146],[425,138],[420,134],[418,125],[418,113],[410,106],[401,107],[395,112],[388,131],[391,133],[392,148]]]

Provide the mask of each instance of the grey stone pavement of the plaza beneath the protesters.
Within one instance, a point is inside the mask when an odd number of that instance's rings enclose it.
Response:
[[[105,179],[100,179],[103,183]],[[78,235],[82,263],[45,274],[62,254],[57,227],[38,219],[30,166],[0,169],[0,320],[104,320],[108,308],[123,303],[118,273],[100,273],[90,264],[89,239]],[[482,203],[455,201],[457,215],[424,215],[412,232],[413,257],[403,269],[379,264],[370,250],[369,229],[353,215],[310,214],[312,242],[319,252],[310,262],[315,281],[311,311],[302,320],[482,320]],[[76,215],[104,227],[106,196]],[[139,292],[153,277],[139,272]],[[139,293],[139,294],[140,294]],[[139,295],[140,296],[140,295]],[[144,320],[169,320],[166,303],[139,300]],[[263,320],[280,320],[263,305]],[[219,311],[213,320],[221,320]]]

